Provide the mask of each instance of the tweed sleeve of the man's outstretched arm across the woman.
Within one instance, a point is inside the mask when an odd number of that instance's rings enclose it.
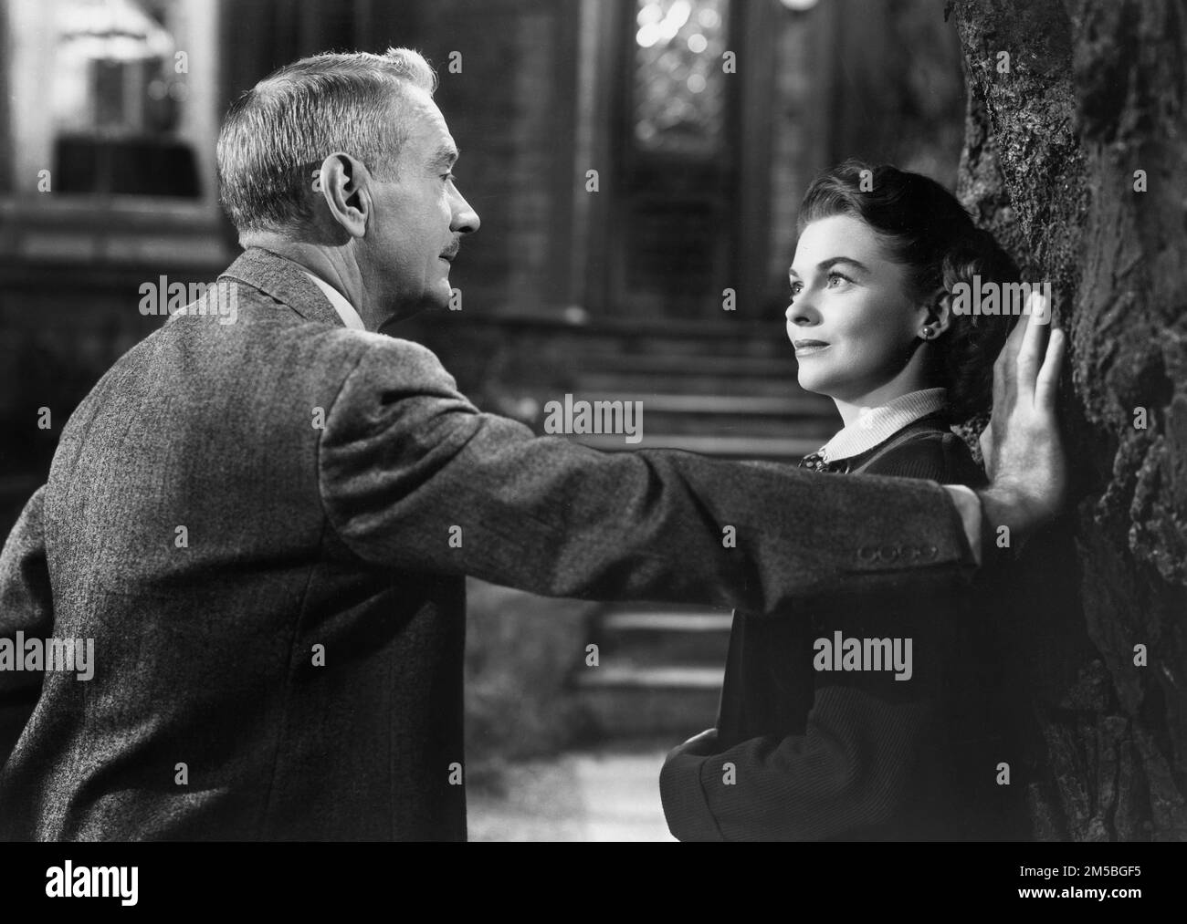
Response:
[[[876,593],[906,576],[972,574],[959,515],[935,484],[537,438],[480,413],[429,350],[355,336],[367,349],[318,458],[328,520],[367,562],[545,595],[766,613],[840,582]],[[902,555],[876,554],[888,536]]]

